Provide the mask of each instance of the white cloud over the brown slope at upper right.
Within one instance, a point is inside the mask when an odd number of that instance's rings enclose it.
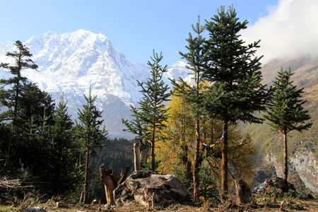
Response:
[[[262,63],[271,59],[296,57],[302,54],[318,56],[318,1],[280,0],[269,8],[269,15],[259,18],[242,31],[247,43],[261,40],[258,56]]]

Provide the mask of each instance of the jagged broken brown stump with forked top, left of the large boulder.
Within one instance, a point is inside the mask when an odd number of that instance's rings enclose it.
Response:
[[[124,175],[122,175],[122,177],[119,179],[119,182],[117,182],[113,170],[106,170],[104,164],[100,165],[100,180],[104,184],[107,204],[115,204],[113,193],[114,189],[116,189],[119,184],[122,184],[122,182],[125,181],[125,179],[128,177],[129,170],[130,167],[127,165]]]

